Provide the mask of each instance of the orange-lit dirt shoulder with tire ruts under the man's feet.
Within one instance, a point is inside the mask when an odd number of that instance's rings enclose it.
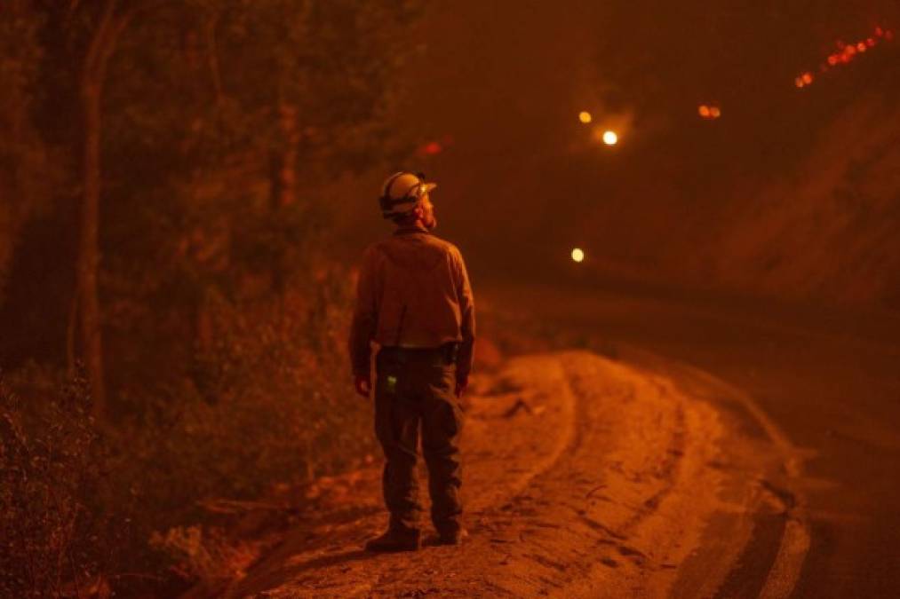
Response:
[[[373,467],[330,480],[326,509],[224,595],[712,596],[760,544],[774,575],[756,591],[793,586],[808,540],[785,486],[794,456],[734,389],[590,352],[518,357],[473,382],[462,547],[361,550],[386,521]],[[777,525],[761,541],[754,521]]]

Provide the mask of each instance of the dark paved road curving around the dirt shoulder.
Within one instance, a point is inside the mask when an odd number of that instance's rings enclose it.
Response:
[[[790,456],[765,484],[795,505],[791,515],[752,518],[752,541],[717,595],[900,596],[900,315],[579,274],[497,284],[482,298],[567,333],[570,346],[610,346],[623,362],[674,380],[687,370],[727,381],[711,398],[720,412],[747,432],[763,424]],[[711,520],[703,547],[725,534],[717,521],[727,517]],[[796,580],[784,576],[793,568]]]

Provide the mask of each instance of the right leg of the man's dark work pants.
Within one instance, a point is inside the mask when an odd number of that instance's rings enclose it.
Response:
[[[428,466],[431,520],[442,533],[458,530],[463,514],[459,497],[463,411],[455,395],[455,381],[454,366],[432,367],[422,389],[422,452]]]

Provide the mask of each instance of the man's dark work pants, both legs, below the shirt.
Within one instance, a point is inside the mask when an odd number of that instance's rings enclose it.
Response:
[[[375,434],[384,451],[384,503],[391,529],[419,530],[419,432],[428,467],[431,520],[441,534],[459,530],[463,505],[459,437],[463,413],[456,368],[437,350],[382,351],[376,361]]]

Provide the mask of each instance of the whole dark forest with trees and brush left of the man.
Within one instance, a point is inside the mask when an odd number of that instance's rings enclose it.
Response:
[[[216,577],[223,500],[373,451],[329,184],[410,151],[419,4],[2,4],[0,595]]]

